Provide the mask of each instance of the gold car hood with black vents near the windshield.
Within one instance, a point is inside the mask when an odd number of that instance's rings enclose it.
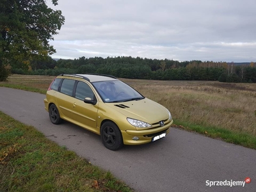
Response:
[[[168,111],[164,106],[147,98],[106,104],[129,118],[141,120],[149,124],[169,118]]]

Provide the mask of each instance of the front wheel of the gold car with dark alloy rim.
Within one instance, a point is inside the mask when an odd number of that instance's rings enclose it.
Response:
[[[113,122],[104,122],[102,124],[100,138],[103,145],[110,150],[118,150],[124,145],[120,129]]]

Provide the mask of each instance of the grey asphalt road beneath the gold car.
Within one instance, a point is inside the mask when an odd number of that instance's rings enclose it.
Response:
[[[162,140],[114,152],[102,145],[97,134],[68,122],[51,124],[44,98],[40,93],[0,87],[0,111],[109,170],[135,191],[256,191],[256,150],[173,128]],[[246,177],[252,181],[244,187],[207,186],[211,181],[225,185]]]

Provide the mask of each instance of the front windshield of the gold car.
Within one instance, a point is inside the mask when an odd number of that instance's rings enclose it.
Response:
[[[143,95],[122,81],[98,81],[92,83],[104,102],[125,102],[144,99]]]

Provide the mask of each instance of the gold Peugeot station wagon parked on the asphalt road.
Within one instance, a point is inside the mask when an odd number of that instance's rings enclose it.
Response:
[[[95,132],[110,150],[164,138],[173,123],[164,106],[102,74],[57,76],[44,104],[52,124],[67,120]]]

